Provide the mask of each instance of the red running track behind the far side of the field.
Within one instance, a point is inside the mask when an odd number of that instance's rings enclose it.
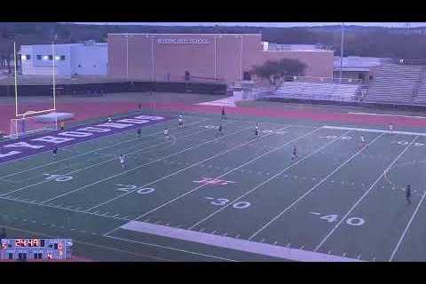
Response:
[[[142,107],[152,107],[149,103],[143,103]],[[29,109],[45,109],[48,105],[32,104],[28,105]],[[129,101],[106,101],[106,102],[75,102],[61,103],[59,112],[67,112],[75,114],[73,122],[80,122],[90,118],[99,116],[107,116],[112,114],[120,114],[136,110],[138,103]],[[158,110],[174,110],[183,111],[185,113],[204,113],[217,114],[221,113],[222,106],[201,106],[188,105],[185,103],[156,103],[155,109]],[[369,124],[379,127],[385,127],[393,123],[396,127],[426,127],[426,119],[415,117],[397,117],[397,116],[374,116],[360,114],[346,114],[332,110],[290,110],[276,109],[267,107],[226,107],[226,114],[241,114],[260,117],[272,117],[283,119],[300,119],[311,120],[315,122],[351,122],[359,125]],[[14,116],[14,106],[0,106],[0,131],[9,132],[10,119]]]

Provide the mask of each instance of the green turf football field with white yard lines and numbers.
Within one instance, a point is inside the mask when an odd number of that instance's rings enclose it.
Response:
[[[425,133],[217,124],[186,115],[0,164],[0,225],[94,261],[426,260]]]

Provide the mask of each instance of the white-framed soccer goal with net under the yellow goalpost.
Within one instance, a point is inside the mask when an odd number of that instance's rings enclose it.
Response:
[[[44,130],[58,130],[58,117],[52,115],[50,121],[41,122],[37,116],[28,116],[34,112],[27,112],[22,118],[11,119],[11,131],[8,138],[20,138],[28,134],[44,131]]]

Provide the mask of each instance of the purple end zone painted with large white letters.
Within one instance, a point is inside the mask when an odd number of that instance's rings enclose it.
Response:
[[[113,122],[98,122],[90,125],[80,125],[67,130],[53,130],[41,134],[19,138],[0,143],[0,164],[23,157],[51,151],[55,146],[60,148],[70,146],[94,138],[106,137],[115,133],[137,129],[158,122],[165,122],[171,117],[133,114],[114,120]]]

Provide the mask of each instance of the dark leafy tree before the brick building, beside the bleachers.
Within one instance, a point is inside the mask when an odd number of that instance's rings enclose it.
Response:
[[[304,75],[306,64],[297,59],[267,60],[264,65],[255,66],[251,74],[267,79],[272,86],[277,86],[285,76]]]

